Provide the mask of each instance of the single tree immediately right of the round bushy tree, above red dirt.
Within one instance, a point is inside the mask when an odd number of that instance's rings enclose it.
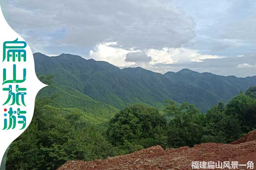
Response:
[[[169,101],[165,112],[171,116],[167,133],[169,146],[178,148],[200,143],[204,115],[194,105],[183,103],[177,107]]]

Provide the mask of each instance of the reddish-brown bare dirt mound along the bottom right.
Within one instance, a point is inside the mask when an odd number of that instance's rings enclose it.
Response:
[[[255,135],[255,131],[252,132]],[[256,140],[250,141],[254,135],[240,144],[205,143],[193,148],[163,150],[161,146],[153,146],[132,154],[109,157],[95,161],[67,161],[58,170],[191,170],[192,161],[238,161],[247,164],[256,163]],[[242,138],[243,139],[243,138]],[[226,168],[227,169],[227,168]],[[240,167],[239,169],[247,169]],[[255,168],[256,169],[256,168]]]

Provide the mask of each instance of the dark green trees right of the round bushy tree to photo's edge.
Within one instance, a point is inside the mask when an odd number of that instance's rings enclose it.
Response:
[[[250,88],[252,89],[252,88]],[[220,102],[204,115],[194,105],[180,107],[167,101],[165,115],[170,119],[168,146],[193,146],[203,142],[230,143],[256,125],[256,99],[238,94],[227,105]]]

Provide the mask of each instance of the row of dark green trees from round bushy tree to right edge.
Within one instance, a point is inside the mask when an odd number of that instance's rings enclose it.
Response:
[[[108,140],[122,153],[158,144],[163,148],[178,148],[203,142],[230,143],[255,126],[255,102],[255,99],[240,93],[227,105],[220,102],[206,114],[187,102],[180,105],[166,101],[164,115],[152,107],[133,105],[110,120]],[[152,115],[156,116],[152,118]],[[145,124],[154,128],[145,127]]]

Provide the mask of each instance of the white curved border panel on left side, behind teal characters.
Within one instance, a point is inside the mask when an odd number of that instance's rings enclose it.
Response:
[[[26,62],[7,62],[3,61],[3,43],[5,41],[14,41],[15,39],[18,38],[19,41],[24,41],[22,37],[18,33],[16,33],[6,22],[4,15],[2,13],[2,9],[0,6],[0,160],[2,160],[3,155],[7,149],[7,147],[15,140],[19,135],[21,135],[26,128],[29,126],[32,117],[33,117],[33,111],[34,111],[34,106],[35,106],[35,97],[37,95],[37,92],[45,87],[46,85],[41,83],[39,79],[37,78],[35,74],[35,64],[34,64],[34,59],[33,59],[33,54],[32,51],[27,44],[25,50],[26,50]],[[20,129],[19,124],[17,124],[17,127],[15,129],[9,129],[9,130],[2,130],[4,127],[4,109],[8,109],[9,107],[13,107],[17,109],[16,105],[9,106],[9,105],[4,105],[4,102],[7,100],[8,97],[8,92],[3,91],[2,88],[6,88],[9,86],[9,84],[2,85],[2,80],[3,80],[3,68],[6,68],[7,70],[7,79],[12,78],[12,70],[13,70],[13,64],[17,65],[17,79],[20,79],[22,77],[22,70],[23,68],[26,68],[26,81],[23,83],[19,83],[19,87],[24,87],[27,88],[26,90],[26,95],[25,95],[25,106],[20,106],[21,110],[27,111],[26,113],[26,127],[22,130]],[[12,84],[13,89],[15,89],[15,83]]]

